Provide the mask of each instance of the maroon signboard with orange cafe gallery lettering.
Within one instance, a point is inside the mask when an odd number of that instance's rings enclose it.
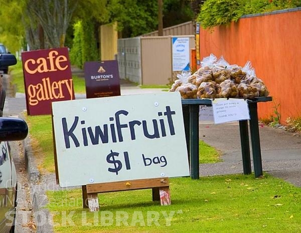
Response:
[[[51,102],[74,99],[67,48],[24,52],[22,63],[28,115],[51,114]]]

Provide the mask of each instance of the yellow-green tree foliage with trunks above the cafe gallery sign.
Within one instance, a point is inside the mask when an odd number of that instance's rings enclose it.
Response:
[[[94,17],[98,21],[107,21],[106,2],[0,0],[0,39],[9,48],[13,48],[12,51],[18,51],[24,39],[32,50],[40,49],[44,44],[45,48],[62,47],[73,19],[90,20]]]

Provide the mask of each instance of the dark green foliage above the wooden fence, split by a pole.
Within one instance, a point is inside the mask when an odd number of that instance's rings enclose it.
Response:
[[[193,0],[164,0],[163,25],[170,27],[194,18]],[[109,21],[118,22],[122,38],[158,30],[158,0],[108,0]]]

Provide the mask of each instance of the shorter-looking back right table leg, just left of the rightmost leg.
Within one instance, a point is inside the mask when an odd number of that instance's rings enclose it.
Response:
[[[240,132],[243,173],[245,175],[248,175],[252,173],[252,169],[251,169],[249,131],[248,131],[247,120],[239,121],[239,132]]]

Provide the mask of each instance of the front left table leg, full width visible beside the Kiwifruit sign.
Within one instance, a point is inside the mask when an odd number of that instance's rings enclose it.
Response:
[[[190,119],[190,172],[192,179],[200,178],[199,168],[199,105],[189,105]]]

